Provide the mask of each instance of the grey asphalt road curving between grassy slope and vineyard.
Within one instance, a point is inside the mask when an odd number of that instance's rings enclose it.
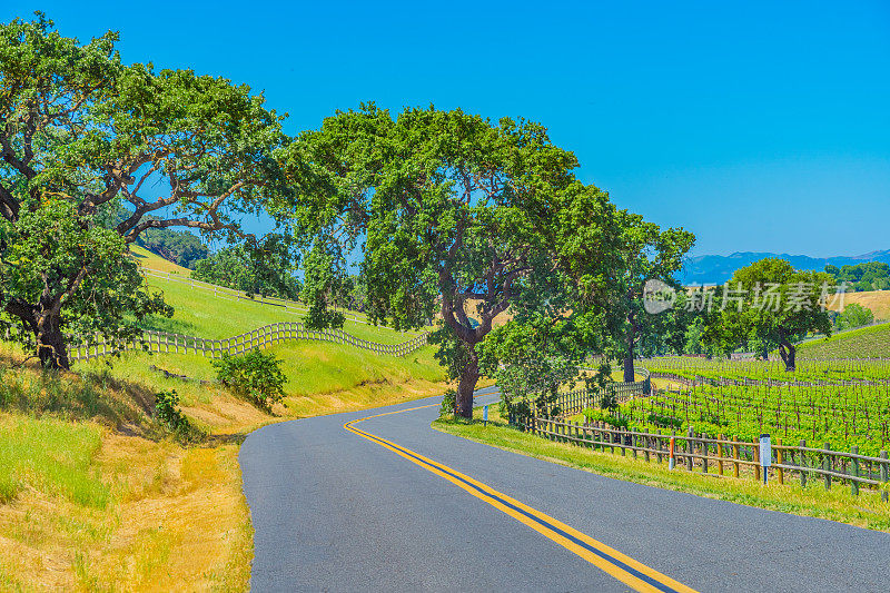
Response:
[[[632,589],[607,562],[597,566],[520,513],[472,494],[477,486],[463,487],[399,447],[694,590],[890,591],[884,533],[501,451],[431,428],[437,405],[354,425],[385,443],[344,427],[437,403],[286,422],[248,436],[239,462],[256,531],[254,591]]]

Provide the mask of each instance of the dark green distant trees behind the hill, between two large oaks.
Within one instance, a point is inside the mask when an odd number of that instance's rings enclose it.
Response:
[[[256,246],[246,243],[224,247],[198,261],[191,276],[249,295],[296,299],[300,286],[294,276],[294,257],[283,237],[268,235]]]

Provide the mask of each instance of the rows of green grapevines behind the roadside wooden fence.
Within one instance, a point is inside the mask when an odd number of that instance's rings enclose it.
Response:
[[[890,360],[781,363],[669,357],[646,360],[652,377],[684,384],[619,406],[633,431],[694,431],[755,441],[770,433],[787,444],[857,446],[877,455],[890,444]]]

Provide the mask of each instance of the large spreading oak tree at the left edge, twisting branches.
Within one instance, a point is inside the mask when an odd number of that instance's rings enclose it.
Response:
[[[160,310],[127,244],[169,227],[238,235],[236,217],[281,190],[280,118],[261,97],[125,66],[116,41],[80,43],[42,14],[0,26],[0,318],[53,367],[69,365],[66,333],[126,339],[136,326],[121,319]],[[131,214],[102,228],[113,202]]]

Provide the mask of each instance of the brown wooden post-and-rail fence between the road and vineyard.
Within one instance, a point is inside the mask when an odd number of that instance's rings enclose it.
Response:
[[[574,423],[562,418],[513,417],[511,421],[521,429],[543,436],[551,441],[571,443],[599,451],[609,449],[633,458],[643,457],[646,462],[668,463],[671,439],[674,439],[674,461],[678,467],[685,466],[705,474],[749,476],[762,478],[760,444],[733,441],[720,435],[716,438],[694,434],[685,435],[634,432],[615,428],[604,423]],[[822,447],[807,446],[805,441],[798,445],[783,445],[781,441],[771,447],[771,466],[767,470],[772,480],[783,484],[787,480],[800,481],[807,486],[810,481],[822,482],[825,490],[832,483],[847,483],[853,495],[860,487],[880,488],[881,500],[888,500],[888,473],[890,459],[881,451],[879,457],[860,455],[858,447],[849,453],[833,451],[829,443]]]

